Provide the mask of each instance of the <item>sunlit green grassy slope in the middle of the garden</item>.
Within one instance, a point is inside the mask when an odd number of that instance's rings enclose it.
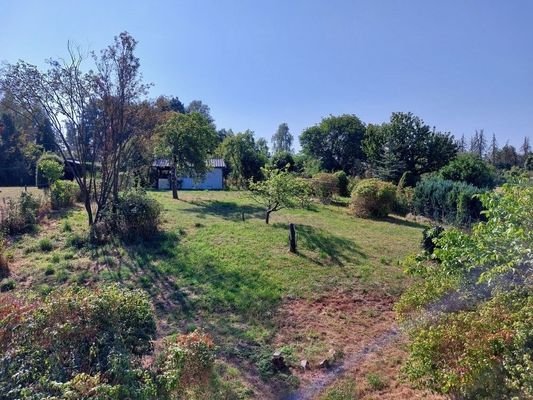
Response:
[[[250,349],[270,343],[283,299],[352,287],[399,294],[407,282],[397,261],[420,240],[419,226],[356,219],[345,207],[285,210],[266,225],[243,193],[180,195],[175,201],[169,192],[153,193],[164,207],[163,229],[148,244],[78,249],[72,238],[86,229],[83,212],[56,215],[14,244],[17,290],[102,282],[142,287],[154,299],[161,334],[201,326],[227,359],[246,360]],[[298,255],[287,251],[288,222],[297,225]],[[40,250],[43,237],[52,251]]]

